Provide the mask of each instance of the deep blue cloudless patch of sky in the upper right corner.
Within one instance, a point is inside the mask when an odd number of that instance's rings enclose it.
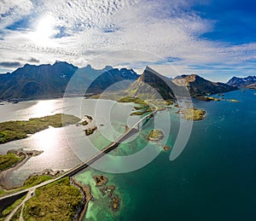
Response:
[[[253,0],[215,0],[206,5],[192,7],[202,18],[216,20],[212,32],[202,35],[203,38],[246,44],[255,41],[256,37],[256,2]]]

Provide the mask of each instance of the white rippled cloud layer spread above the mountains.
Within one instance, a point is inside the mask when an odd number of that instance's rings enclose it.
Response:
[[[3,1],[0,5],[3,30],[0,32],[0,61],[24,63],[17,56],[22,53],[33,58],[27,61],[34,63],[64,60],[84,66],[94,60],[96,66],[103,66],[107,63],[97,63],[96,55],[117,50],[119,53],[114,53],[117,57],[109,65],[125,63],[139,69],[148,61],[164,70],[170,66],[167,61],[171,61],[181,73],[212,75],[216,70],[215,74],[220,77],[218,67],[224,68],[226,76],[234,72],[252,73],[256,43],[234,45],[201,38],[214,30],[217,21],[202,18],[192,9],[197,3],[200,2]],[[53,30],[44,44],[40,44],[32,40],[32,35],[38,32],[38,22],[45,16],[52,18]],[[127,49],[145,53],[143,58],[131,56],[131,53],[125,55]]]

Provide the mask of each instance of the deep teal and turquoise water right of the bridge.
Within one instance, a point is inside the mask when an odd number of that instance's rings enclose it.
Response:
[[[195,122],[183,153],[169,160],[172,150],[159,155],[147,166],[120,174],[90,171],[76,178],[90,183],[95,201],[90,203],[88,220],[255,220],[256,219],[256,96],[253,90],[224,95],[240,102],[200,102],[207,118]],[[172,115],[167,144],[174,144],[179,120]],[[165,119],[161,119],[163,124]],[[153,124],[143,132],[147,134]],[[131,154],[144,148],[143,133],[122,144],[113,154]],[[127,148],[128,147],[128,148]],[[147,147],[148,148],[148,147]],[[103,162],[104,163],[104,162]],[[108,161],[119,166],[116,161]],[[121,162],[119,162],[121,164]],[[92,174],[104,174],[120,196],[119,212],[112,212],[108,199],[96,192]]]

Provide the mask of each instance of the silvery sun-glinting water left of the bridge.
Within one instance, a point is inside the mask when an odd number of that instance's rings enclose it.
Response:
[[[30,118],[44,117],[55,113],[70,113],[78,117],[89,114],[97,117],[97,123],[101,125],[99,131],[108,131],[109,137],[118,137],[125,131],[125,120],[129,116],[132,104],[121,104],[113,101],[85,100],[83,97],[71,97],[51,100],[19,102],[12,104],[3,102],[0,106],[0,122],[8,120],[27,120]],[[100,104],[99,104],[100,103]],[[96,106],[104,110],[102,114],[96,113]],[[109,130],[108,118],[103,116],[109,110],[116,119],[113,124],[118,133]],[[32,157],[17,170],[9,172],[7,177],[0,177],[0,182],[7,188],[21,185],[26,177],[34,172],[43,172],[46,169],[68,170],[81,163],[81,160],[89,159],[95,155],[91,139],[98,142],[98,148],[105,148],[109,141],[95,133],[90,139],[84,136],[82,126],[69,125],[63,128],[50,127],[47,130],[33,134],[26,139],[8,142],[0,145],[0,154],[5,154],[9,149],[28,148],[32,150],[43,150],[43,154]]]

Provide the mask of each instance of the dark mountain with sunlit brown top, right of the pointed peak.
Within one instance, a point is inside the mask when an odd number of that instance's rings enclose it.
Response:
[[[181,75],[172,79],[172,82],[177,85],[188,87],[191,96],[204,96],[237,90],[234,86],[224,83],[215,83],[207,79],[203,79],[196,74]]]

